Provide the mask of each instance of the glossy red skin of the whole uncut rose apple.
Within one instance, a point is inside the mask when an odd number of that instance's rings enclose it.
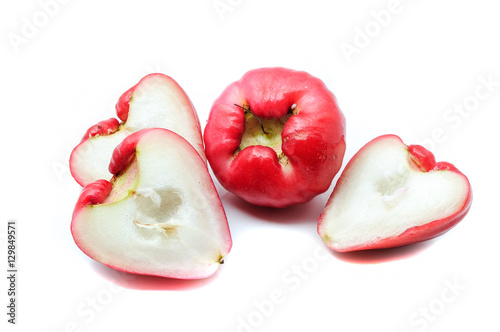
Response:
[[[293,104],[282,132],[288,165],[266,146],[249,146],[235,157],[249,105],[259,118],[280,118]],[[261,206],[305,203],[326,191],[345,152],[345,118],[325,84],[305,72],[286,68],[249,71],[214,102],[204,133],[205,152],[214,175],[228,191]]]

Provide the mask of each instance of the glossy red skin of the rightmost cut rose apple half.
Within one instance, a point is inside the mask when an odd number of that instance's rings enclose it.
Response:
[[[399,140],[401,140],[401,138],[395,135],[382,135],[372,140],[372,142],[387,136],[394,136],[397,137]],[[460,174],[460,176],[463,176],[467,180],[467,185],[469,188],[468,195],[460,210],[446,218],[434,220],[422,226],[409,228],[398,236],[392,236],[389,238],[381,239],[376,242],[345,248],[343,250],[337,250],[337,251],[350,252],[350,251],[369,250],[369,249],[384,249],[384,248],[401,247],[422,241],[427,241],[435,237],[438,237],[440,235],[443,235],[451,228],[453,228],[455,225],[457,225],[465,217],[465,215],[467,215],[472,204],[472,189],[470,186],[469,179],[462,172],[460,172],[453,164],[450,164],[445,161],[436,162],[434,154],[431,151],[424,148],[423,146],[409,145],[407,147],[408,147],[409,157],[419,166],[419,169],[422,172],[450,171]],[[356,156],[354,156],[353,158],[355,157]],[[320,219],[321,216],[318,218],[318,221]]]

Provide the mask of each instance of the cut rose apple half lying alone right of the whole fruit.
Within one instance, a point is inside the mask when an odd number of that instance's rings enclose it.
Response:
[[[469,181],[420,145],[375,138],[349,161],[318,219],[339,252],[390,248],[439,236],[469,211]]]

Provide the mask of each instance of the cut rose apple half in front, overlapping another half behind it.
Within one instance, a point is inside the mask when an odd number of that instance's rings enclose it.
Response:
[[[144,129],[113,152],[111,181],[82,190],[71,232],[114,269],[179,279],[212,275],[231,249],[226,215],[196,150],[166,129]]]

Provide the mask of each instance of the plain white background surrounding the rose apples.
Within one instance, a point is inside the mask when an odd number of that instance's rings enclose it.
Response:
[[[18,324],[7,323],[2,277],[2,331],[500,330],[494,3],[2,1],[4,271],[8,220],[17,220],[19,247]],[[204,127],[222,90],[264,66],[308,71],[335,93],[347,119],[344,165],[381,134],[425,144],[468,176],[470,213],[426,243],[341,255],[316,233],[338,176],[323,195],[283,210],[242,203],[214,180],[234,242],[215,276],[131,276],[80,252],[69,231],[80,192],[69,153],[114,116],[120,94],[163,72]]]

